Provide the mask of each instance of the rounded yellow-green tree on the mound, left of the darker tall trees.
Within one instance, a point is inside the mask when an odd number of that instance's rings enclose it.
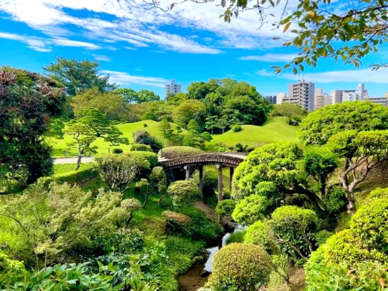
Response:
[[[196,120],[201,113],[205,113],[205,105],[201,101],[184,100],[173,109],[173,119],[176,124],[186,128],[189,121]]]

